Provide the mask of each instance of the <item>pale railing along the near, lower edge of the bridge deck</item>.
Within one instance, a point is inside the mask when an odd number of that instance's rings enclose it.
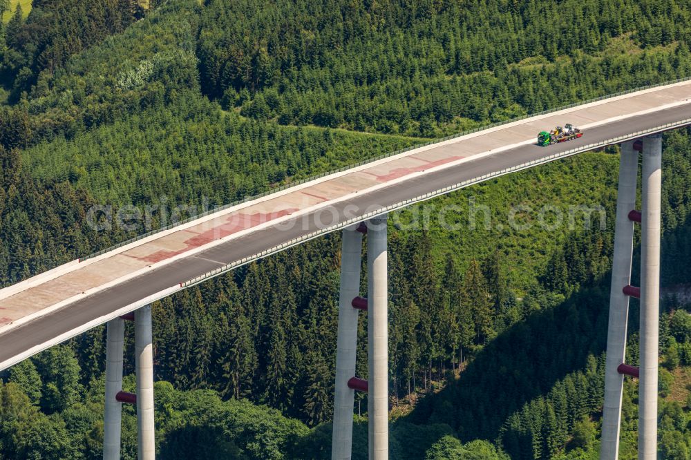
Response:
[[[272,247],[271,249],[265,249],[264,251],[261,251],[261,253],[258,253],[255,256],[245,257],[245,258],[242,258],[240,260],[236,260],[235,262],[231,262],[228,265],[224,265],[223,267],[219,267],[218,269],[215,269],[213,271],[209,271],[209,273],[207,273],[207,274],[203,274],[203,275],[197,276],[196,278],[192,278],[191,280],[181,282],[180,287],[182,287],[184,289],[184,288],[187,288],[187,287],[190,287],[193,285],[197,285],[200,282],[214,278],[220,274],[223,274],[223,273],[230,271],[232,269],[236,269],[237,267],[245,265],[249,262],[253,262],[254,260],[264,258],[266,256],[269,256],[270,254],[283,251],[284,249],[287,249],[289,247],[299,245],[305,241],[312,240],[312,239],[317,238],[318,236],[321,236],[321,235],[325,235],[326,233],[331,233],[332,231],[337,231],[339,229],[342,229],[344,227],[348,227],[348,226],[355,224],[357,222],[362,222],[363,220],[367,220],[369,218],[375,217],[376,215],[390,213],[391,211],[397,211],[398,209],[407,207],[410,204],[415,204],[415,203],[419,203],[422,201],[430,200],[431,198],[435,198],[439,195],[444,195],[444,194],[449,193],[451,191],[463,189],[466,186],[477,184],[477,183],[483,182],[483,181],[491,179],[491,178],[497,178],[501,175],[513,173],[515,171],[520,171],[522,169],[527,169],[527,168],[530,168],[531,166],[535,166],[536,164],[549,163],[553,160],[558,160],[559,158],[569,157],[571,155],[576,155],[577,153],[582,153],[582,152],[586,152],[589,150],[593,150],[594,148],[608,146],[608,145],[612,145],[612,144],[618,144],[621,141],[631,140],[631,139],[634,139],[636,137],[640,137],[642,135],[646,135],[646,134],[650,134],[650,133],[659,133],[660,131],[666,131],[668,128],[681,127],[681,126],[685,126],[688,124],[691,124],[691,118],[683,119],[679,122],[667,123],[667,124],[664,124],[661,126],[656,126],[655,128],[648,128],[648,129],[645,129],[642,131],[637,131],[636,133],[632,133],[630,135],[613,137],[611,139],[607,139],[607,140],[604,140],[601,142],[596,142],[593,144],[587,144],[585,146],[571,148],[570,150],[567,150],[564,152],[553,153],[552,155],[547,155],[546,157],[539,158],[538,160],[531,160],[529,162],[517,164],[516,166],[511,166],[511,168],[502,169],[500,171],[495,171],[494,173],[490,173],[490,174],[484,174],[484,175],[481,175],[480,177],[477,177],[477,178],[464,180],[463,182],[459,182],[459,183],[454,184],[454,185],[446,186],[442,189],[439,189],[439,190],[436,190],[433,192],[428,192],[428,193],[425,193],[424,195],[419,195],[415,198],[410,198],[408,200],[404,200],[404,201],[398,202],[396,204],[390,204],[389,206],[384,207],[382,209],[377,209],[377,211],[370,211],[370,212],[365,213],[361,216],[358,216],[357,218],[352,218],[352,219],[345,220],[344,222],[339,222],[338,224],[331,225],[330,227],[326,227],[325,229],[313,231],[311,233],[307,233],[306,235],[303,235],[299,238],[293,238],[292,240],[287,241],[285,243],[282,243],[281,245]]]

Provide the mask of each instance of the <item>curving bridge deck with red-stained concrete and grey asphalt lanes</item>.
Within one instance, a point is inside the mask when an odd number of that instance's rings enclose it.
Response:
[[[357,166],[0,290],[0,368],[180,283],[462,180],[691,117],[691,82],[651,88],[489,128]],[[540,148],[539,131],[573,123],[585,135]]]

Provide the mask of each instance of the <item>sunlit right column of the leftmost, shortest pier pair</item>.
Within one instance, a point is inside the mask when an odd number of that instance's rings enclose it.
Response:
[[[151,305],[134,314],[134,347],[137,366],[137,440],[139,460],[155,459],[153,422],[153,344]]]

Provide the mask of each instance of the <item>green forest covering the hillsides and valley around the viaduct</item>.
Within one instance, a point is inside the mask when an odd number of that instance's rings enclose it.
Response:
[[[0,287],[146,230],[95,231],[95,204],[227,204],[691,70],[689,1],[21,3],[0,0]],[[691,307],[675,294],[691,281],[691,131],[663,142],[660,449],[689,459]],[[607,148],[395,216],[392,458],[597,458],[617,167]],[[473,204],[501,223],[519,204],[609,217],[471,229]],[[449,205],[455,231],[435,217]],[[429,225],[408,228],[419,215]],[[339,248],[327,236],[155,303],[161,458],[330,456]],[[361,315],[361,376],[366,329]],[[1,375],[0,459],[100,457],[104,334]],[[130,329],[125,356],[132,390]],[[623,459],[636,458],[636,401],[627,380]],[[356,459],[366,407],[358,395]],[[124,459],[135,430],[125,406]]]

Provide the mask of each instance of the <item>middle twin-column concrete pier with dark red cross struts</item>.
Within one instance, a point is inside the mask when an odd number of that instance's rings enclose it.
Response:
[[[343,230],[331,458],[352,455],[354,391],[368,393],[370,459],[388,459],[388,271],[386,215]],[[367,233],[368,296],[359,296],[362,233]],[[368,312],[368,380],[355,376],[358,310]]]

